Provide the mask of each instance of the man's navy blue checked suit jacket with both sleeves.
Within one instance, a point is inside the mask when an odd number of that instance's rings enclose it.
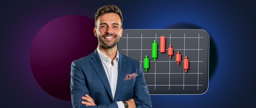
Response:
[[[136,73],[134,79],[124,81],[126,74]],[[117,101],[134,99],[138,108],[152,108],[148,87],[139,60],[119,53],[118,78],[113,100],[108,77],[97,49],[71,64],[71,100],[73,108],[118,108]],[[97,106],[85,106],[82,97],[88,94]]]

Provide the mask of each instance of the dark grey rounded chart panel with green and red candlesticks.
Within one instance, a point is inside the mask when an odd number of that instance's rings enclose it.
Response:
[[[203,94],[208,89],[205,30],[127,29],[117,48],[140,61],[150,95]]]

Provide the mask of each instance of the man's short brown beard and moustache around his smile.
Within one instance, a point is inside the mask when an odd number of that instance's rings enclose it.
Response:
[[[104,42],[103,41],[104,36],[114,36],[115,40],[114,40],[114,42],[112,42],[113,40]],[[97,37],[98,37],[98,42],[101,44],[101,46],[104,46],[106,48],[113,48],[119,42],[119,39],[120,39],[120,35],[117,36],[114,34],[104,34],[102,36],[97,36]]]

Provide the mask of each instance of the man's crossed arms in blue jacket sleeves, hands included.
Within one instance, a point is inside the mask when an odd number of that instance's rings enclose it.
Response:
[[[137,74],[138,76],[134,85],[134,99],[130,99],[126,102],[128,103],[129,108],[134,108],[136,106],[141,108],[152,108],[151,99],[140,64],[138,65]],[[94,100],[87,95],[89,94],[89,90],[85,83],[85,77],[76,61],[73,61],[71,64],[70,88],[73,108],[118,108],[117,102],[95,105]],[[83,95],[86,97],[81,97]]]

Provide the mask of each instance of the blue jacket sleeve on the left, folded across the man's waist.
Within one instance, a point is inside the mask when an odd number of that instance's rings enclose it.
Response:
[[[118,108],[117,102],[100,104],[97,106],[85,106],[81,103],[82,101],[85,101],[82,97],[85,97],[86,94],[90,94],[86,86],[85,76],[76,61],[71,63],[70,76],[71,101],[73,108]]]

